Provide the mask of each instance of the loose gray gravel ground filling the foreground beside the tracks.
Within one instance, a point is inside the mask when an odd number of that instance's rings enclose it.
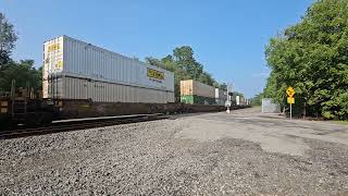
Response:
[[[294,156],[184,133],[220,115],[0,140],[0,195],[348,195],[347,145],[302,138]]]

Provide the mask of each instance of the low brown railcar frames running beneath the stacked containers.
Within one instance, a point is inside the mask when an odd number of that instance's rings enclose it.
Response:
[[[186,113],[223,111],[224,106],[144,102],[94,102],[90,99],[0,98],[0,128],[23,124],[48,125],[65,119],[114,117],[149,113]]]

